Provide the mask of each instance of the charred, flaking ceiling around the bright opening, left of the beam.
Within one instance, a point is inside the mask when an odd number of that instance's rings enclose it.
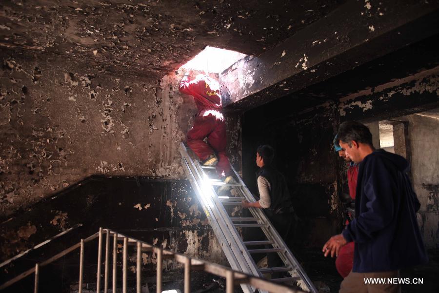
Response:
[[[0,46],[166,73],[206,45],[260,55],[342,2],[1,1]]]

